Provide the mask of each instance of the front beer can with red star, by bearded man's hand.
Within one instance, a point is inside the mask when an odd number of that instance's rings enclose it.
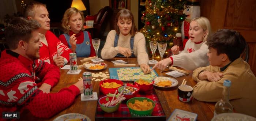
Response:
[[[93,84],[91,83],[91,72],[83,72],[83,94],[84,97],[93,97]]]

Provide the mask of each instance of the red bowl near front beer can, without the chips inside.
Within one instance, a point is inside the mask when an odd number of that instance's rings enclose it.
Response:
[[[121,84],[121,86],[123,86],[123,82],[120,81],[120,80],[117,80],[117,79],[106,79],[106,80],[103,80],[103,81],[99,82],[99,87],[101,88],[101,92],[104,95],[109,94],[109,93],[114,94],[116,92],[116,90],[118,90],[118,87],[116,87],[116,88],[105,88],[105,87],[102,87],[101,85],[103,83],[106,83],[106,82],[108,82],[108,83],[116,82],[117,84]]]

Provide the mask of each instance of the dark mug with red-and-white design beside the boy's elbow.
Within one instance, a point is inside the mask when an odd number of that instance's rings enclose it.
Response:
[[[188,85],[181,85],[178,87],[178,99],[182,102],[189,102],[192,97],[193,87]]]

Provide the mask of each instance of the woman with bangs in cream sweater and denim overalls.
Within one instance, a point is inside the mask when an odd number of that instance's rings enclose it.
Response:
[[[148,65],[148,54],[146,52],[146,40],[134,23],[134,17],[131,11],[127,9],[120,10],[116,15],[115,30],[109,32],[105,45],[101,50],[103,59],[114,57],[137,57],[138,64],[142,71],[150,73]]]

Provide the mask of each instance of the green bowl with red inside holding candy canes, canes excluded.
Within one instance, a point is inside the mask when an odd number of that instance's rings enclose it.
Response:
[[[117,103],[117,105],[109,106],[109,107],[105,107],[105,106],[102,105],[103,103],[106,103],[106,102],[108,102],[108,101],[111,101],[112,98],[113,98],[113,97],[107,97],[107,96],[105,96],[105,97],[102,97],[102,98],[99,99],[98,103],[99,103],[99,106],[101,107],[101,109],[102,109],[103,111],[105,111],[105,112],[107,112],[107,113],[112,113],[112,112],[118,110],[118,108],[119,108],[121,102],[120,102],[120,103]]]

